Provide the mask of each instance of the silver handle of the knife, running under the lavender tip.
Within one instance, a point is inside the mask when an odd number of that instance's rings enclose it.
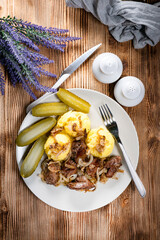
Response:
[[[60,78],[57,80],[57,82],[53,85],[52,88],[57,89],[68,77],[70,76],[70,74],[65,73],[60,76]],[[45,93],[43,96],[41,96],[40,98],[38,98],[37,100],[35,100],[34,102],[32,102],[31,104],[29,104],[26,108],[26,113],[28,113],[33,107],[35,107],[37,104],[42,103],[48,96],[52,95],[51,92],[47,92]]]

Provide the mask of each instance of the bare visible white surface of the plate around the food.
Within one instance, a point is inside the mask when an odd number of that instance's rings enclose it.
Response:
[[[118,123],[119,134],[128,156],[136,169],[139,156],[139,142],[133,122],[124,109],[113,99],[100,92],[86,89],[69,90],[91,104],[90,113],[88,114],[91,120],[91,128],[103,125],[98,107],[104,103],[108,104]],[[59,101],[56,94],[45,99],[45,102],[54,101]],[[22,122],[20,131],[39,119],[28,113]],[[20,166],[26,149],[27,147],[16,148],[18,166]],[[117,146],[114,147],[113,154],[121,155]],[[124,170],[124,173],[117,173],[118,180],[109,179],[105,184],[98,183],[94,192],[87,193],[71,190],[65,186],[54,187],[53,185],[45,184],[38,177],[38,174],[41,172],[40,164],[30,177],[23,180],[27,187],[48,205],[65,211],[84,212],[109,204],[126,189],[131,181],[131,177],[124,161],[121,169]]]

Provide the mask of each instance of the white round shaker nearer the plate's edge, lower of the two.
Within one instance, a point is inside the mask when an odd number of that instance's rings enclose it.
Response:
[[[138,105],[143,100],[144,95],[145,88],[143,83],[133,76],[121,78],[114,87],[116,100],[126,107]]]

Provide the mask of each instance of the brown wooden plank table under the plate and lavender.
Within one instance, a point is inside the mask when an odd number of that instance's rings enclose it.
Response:
[[[69,44],[65,53],[42,49],[42,53],[55,60],[46,70],[57,76],[84,51],[102,43],[102,47],[63,84],[65,88],[94,89],[113,97],[114,84],[101,84],[92,74],[93,60],[107,51],[122,59],[123,76],[133,75],[143,81],[146,89],[143,102],[137,107],[124,109],[138,132],[140,156],[137,172],[144,182],[147,196],[142,199],[132,182],[111,204],[85,213],[63,212],[36,198],[19,175],[15,153],[15,138],[25,117],[25,108],[32,99],[21,86],[13,88],[6,75],[5,97],[0,96],[0,239],[160,239],[160,45],[135,50],[131,41],[118,43],[107,27],[90,13],[66,8],[64,0],[0,0],[0,16],[8,14],[47,27],[67,28],[70,35],[82,38]],[[51,78],[41,78],[41,83],[47,86],[54,82]],[[40,96],[40,93],[36,94]]]

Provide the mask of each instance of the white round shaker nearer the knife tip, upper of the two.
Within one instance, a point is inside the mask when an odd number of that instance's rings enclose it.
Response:
[[[94,76],[102,83],[112,83],[122,75],[123,65],[120,58],[113,53],[102,53],[93,62]]]

